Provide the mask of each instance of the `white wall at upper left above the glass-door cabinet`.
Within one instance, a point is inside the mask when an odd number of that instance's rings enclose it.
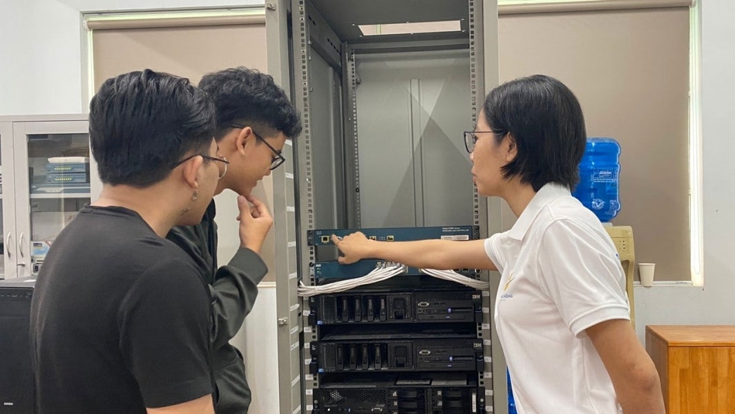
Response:
[[[262,0],[1,0],[0,115],[87,112],[83,12],[243,7]]]

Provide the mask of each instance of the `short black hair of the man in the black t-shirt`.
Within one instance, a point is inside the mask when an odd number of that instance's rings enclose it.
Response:
[[[146,188],[190,152],[208,154],[214,106],[189,79],[146,69],[107,79],[90,102],[100,179]]]

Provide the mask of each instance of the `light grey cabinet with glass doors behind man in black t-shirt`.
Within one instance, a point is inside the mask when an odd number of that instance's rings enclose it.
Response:
[[[0,278],[37,274],[61,229],[90,202],[90,158],[87,115],[0,117]]]

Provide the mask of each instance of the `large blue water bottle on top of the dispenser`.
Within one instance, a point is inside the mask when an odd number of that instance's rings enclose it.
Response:
[[[579,185],[572,195],[603,223],[611,221],[620,211],[619,160],[620,144],[616,140],[587,138],[579,163]]]

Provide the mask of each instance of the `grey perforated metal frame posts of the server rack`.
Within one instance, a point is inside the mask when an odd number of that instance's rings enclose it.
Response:
[[[470,103],[472,119],[481,110],[485,92],[497,85],[497,41],[489,41],[487,33],[497,32],[497,5],[481,0],[468,0],[469,53],[470,53]],[[349,227],[360,226],[359,157],[357,134],[356,88],[359,78],[355,71],[355,55],[369,48],[366,43],[350,44],[341,41],[321,18],[308,0],[279,0],[266,2],[266,27],[268,33],[268,70],[280,85],[291,85],[298,110],[301,112],[304,130],[286,146],[287,168],[273,171],[274,219],[286,226],[276,226],[276,314],[278,318],[279,388],[280,413],[310,414],[312,396],[319,387],[318,377],[308,374],[306,367],[311,362],[310,343],[316,339],[308,324],[309,302],[296,295],[297,280],[314,285],[313,265],[316,260],[314,246],[306,240],[307,231],[315,229],[315,194],[312,154],[312,54],[317,52],[334,68],[339,68],[343,77],[343,140],[345,158],[345,206],[346,223]],[[492,38],[491,38],[492,39]],[[451,43],[451,42],[449,42]],[[417,46],[418,43],[413,43]],[[395,46],[395,45],[394,45]],[[411,46],[406,44],[405,46]],[[375,46],[381,48],[384,46]],[[341,49],[341,55],[340,55]],[[492,219],[488,209],[499,211],[498,201],[488,200],[473,189],[473,224],[481,229],[486,238],[489,230],[495,232],[501,226],[499,215]],[[495,210],[498,209],[498,210]],[[488,272],[481,279],[493,279]],[[492,283],[491,283],[492,285]],[[494,288],[497,287],[495,281]],[[484,371],[478,373],[478,384],[485,388],[487,413],[502,413],[494,410],[493,390],[505,390],[503,375],[495,372],[493,357],[500,354],[493,347],[491,309],[494,299],[490,291],[482,293],[483,318],[477,326],[478,338],[484,343]],[[498,378],[499,377],[499,378]],[[495,384],[494,384],[495,382]],[[501,385],[501,386],[499,386]]]

